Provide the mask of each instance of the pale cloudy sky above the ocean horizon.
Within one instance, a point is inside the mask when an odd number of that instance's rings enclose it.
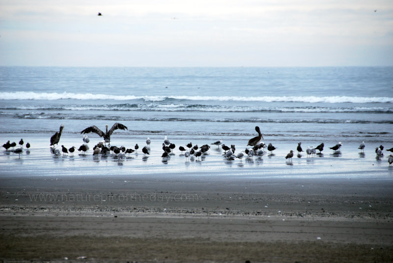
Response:
[[[0,66],[393,66],[393,0],[0,0]]]

